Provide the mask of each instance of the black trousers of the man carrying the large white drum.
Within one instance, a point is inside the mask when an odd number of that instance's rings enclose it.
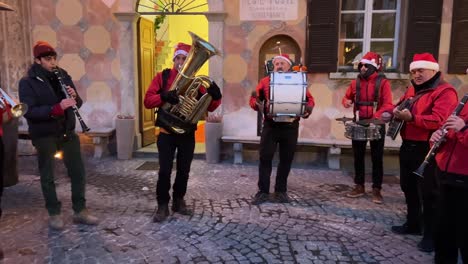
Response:
[[[279,145],[279,164],[276,172],[275,192],[286,192],[291,163],[296,152],[299,122],[273,122],[266,120],[260,139],[260,164],[258,168],[258,189],[270,192],[270,176],[276,145]]]

